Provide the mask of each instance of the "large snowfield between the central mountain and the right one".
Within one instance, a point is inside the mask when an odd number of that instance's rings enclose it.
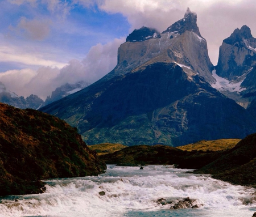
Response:
[[[238,92],[239,93],[241,91],[246,90],[246,88],[240,87],[243,80],[241,82],[237,82],[237,83],[229,82],[228,79],[221,78],[220,76],[218,76],[216,74],[216,70],[212,71],[212,75],[213,75],[213,78],[216,79],[216,83],[211,84],[211,86],[218,91],[229,91],[229,92]]]

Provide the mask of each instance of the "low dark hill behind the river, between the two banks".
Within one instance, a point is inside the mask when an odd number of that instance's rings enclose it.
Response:
[[[219,158],[224,151],[183,151],[179,148],[163,146],[130,146],[112,154],[101,155],[106,164],[146,165],[167,164],[177,168],[199,169]]]

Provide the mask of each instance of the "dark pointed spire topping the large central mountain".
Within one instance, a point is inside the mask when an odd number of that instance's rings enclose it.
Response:
[[[187,11],[185,12],[184,18],[172,24],[170,27],[166,29],[166,31],[163,31],[162,33],[175,32],[175,33],[181,34],[181,33],[184,33],[185,31],[192,31],[192,32],[195,32],[200,37],[202,37],[199,32],[199,28],[197,27],[196,21],[197,21],[196,13],[192,12],[188,7]]]

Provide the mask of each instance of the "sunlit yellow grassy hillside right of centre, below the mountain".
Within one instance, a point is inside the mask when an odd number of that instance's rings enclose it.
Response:
[[[213,141],[199,141],[185,146],[179,146],[183,151],[226,151],[236,146],[241,139],[217,139]]]

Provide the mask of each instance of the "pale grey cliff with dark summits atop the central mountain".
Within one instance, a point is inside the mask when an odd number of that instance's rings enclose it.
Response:
[[[161,34],[146,27],[135,29],[118,48],[118,64],[105,79],[153,62],[172,62],[183,67],[189,76],[199,74],[208,82],[214,82],[207,41],[201,37],[196,20],[196,14],[188,10],[183,19]]]

